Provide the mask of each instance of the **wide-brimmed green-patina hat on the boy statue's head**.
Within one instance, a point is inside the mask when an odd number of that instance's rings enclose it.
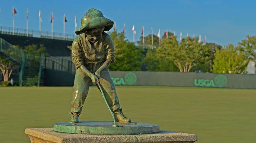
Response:
[[[84,30],[105,27],[104,31],[109,31],[114,22],[105,18],[103,14],[94,8],[89,9],[81,20],[81,27],[75,30],[75,34],[84,33]]]

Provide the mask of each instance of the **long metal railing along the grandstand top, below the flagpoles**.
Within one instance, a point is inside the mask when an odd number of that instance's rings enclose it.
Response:
[[[65,34],[65,39],[63,33],[59,32],[48,32],[48,31],[39,31],[39,30],[31,30],[24,28],[13,28],[1,26],[0,27],[0,34],[8,34],[8,35],[17,35],[17,36],[27,36],[27,37],[36,37],[36,38],[47,38],[47,39],[56,39],[56,40],[67,40],[73,41],[75,39],[75,34]]]

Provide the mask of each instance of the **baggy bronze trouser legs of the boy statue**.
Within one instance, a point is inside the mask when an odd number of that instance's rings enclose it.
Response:
[[[92,79],[87,76],[80,69],[76,70],[75,83],[73,87],[71,112],[81,113],[84,101],[87,97],[88,90]],[[104,95],[112,111],[120,108],[120,104],[117,97],[115,84],[109,74],[108,68],[104,69],[100,73],[99,83],[102,87]],[[99,87],[98,87],[99,88]]]

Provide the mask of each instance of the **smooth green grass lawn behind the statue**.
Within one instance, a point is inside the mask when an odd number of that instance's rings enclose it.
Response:
[[[197,143],[255,142],[256,89],[117,86],[126,117],[198,135]],[[0,142],[29,143],[26,128],[69,121],[72,87],[0,87]],[[90,87],[79,120],[113,120]]]

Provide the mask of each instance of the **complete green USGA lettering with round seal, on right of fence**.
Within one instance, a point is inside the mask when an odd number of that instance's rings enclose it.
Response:
[[[224,87],[227,84],[227,78],[222,75],[219,74],[215,77],[214,82],[213,80],[209,80],[209,79],[195,79],[195,86],[200,86],[200,87]]]

